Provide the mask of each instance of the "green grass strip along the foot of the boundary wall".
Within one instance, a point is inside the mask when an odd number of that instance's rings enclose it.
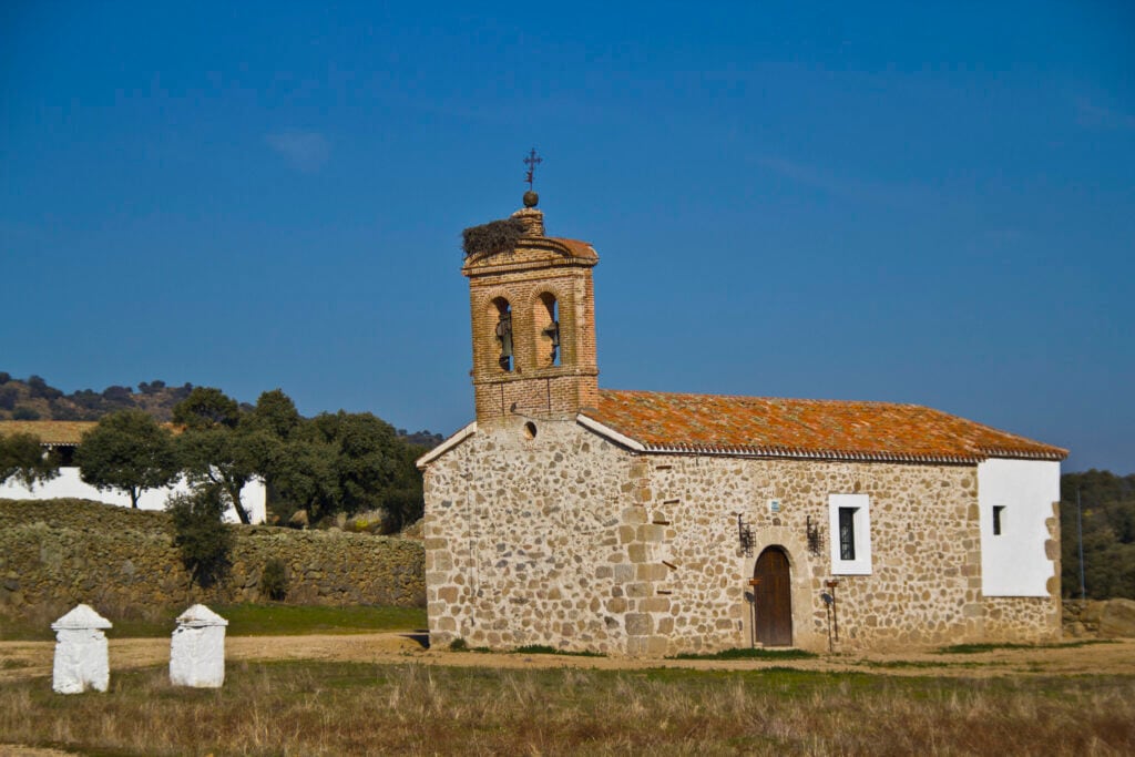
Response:
[[[148,613],[148,617],[110,617],[111,638],[155,638],[173,633],[185,607]],[[212,605],[210,609],[228,621],[229,636],[302,636],[308,633],[370,633],[426,628],[426,611],[420,607],[316,607],[299,605]],[[9,641],[51,641],[51,621],[45,617],[0,617],[0,639]]]

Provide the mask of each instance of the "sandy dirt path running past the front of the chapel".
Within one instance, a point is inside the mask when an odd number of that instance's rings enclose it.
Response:
[[[319,659],[380,664],[419,663],[459,667],[582,667],[640,670],[675,667],[691,670],[760,670],[794,667],[812,671],[858,671],[886,675],[1135,675],[1135,639],[1083,647],[993,649],[976,654],[941,654],[933,650],[905,653],[851,653],[809,659],[683,661],[627,659],[619,657],[569,657],[454,653],[424,649],[422,637],[410,633],[354,636],[229,637],[229,663],[278,659]],[[0,642],[0,681],[51,675],[54,644],[51,641]],[[110,670],[168,664],[169,639],[111,639]]]

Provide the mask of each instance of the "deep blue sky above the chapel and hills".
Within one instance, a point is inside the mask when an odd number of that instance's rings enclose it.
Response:
[[[461,230],[592,243],[600,385],[1135,472],[1135,7],[0,6],[0,370],[448,434]]]

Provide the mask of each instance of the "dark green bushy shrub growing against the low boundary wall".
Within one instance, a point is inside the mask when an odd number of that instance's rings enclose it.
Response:
[[[174,521],[174,546],[190,580],[207,588],[228,575],[233,532],[221,521],[225,498],[220,487],[203,486],[191,494],[170,497],[166,511]]]

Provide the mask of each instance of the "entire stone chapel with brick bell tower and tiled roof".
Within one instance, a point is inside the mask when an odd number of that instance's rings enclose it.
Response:
[[[476,420],[418,461],[431,645],[1060,637],[1067,452],[930,407],[600,389],[585,242],[466,254]]]

